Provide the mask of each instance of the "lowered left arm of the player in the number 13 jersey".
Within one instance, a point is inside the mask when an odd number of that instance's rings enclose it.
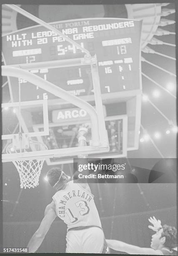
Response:
[[[45,216],[43,220],[40,223],[40,226],[38,230],[35,232],[35,234],[32,236],[28,243],[28,248],[29,248],[29,253],[34,253],[35,251],[38,250],[40,247],[41,243],[43,242],[46,234],[48,233],[48,230],[53,223],[53,221],[56,218],[56,212],[54,210],[54,202],[50,203],[47,205],[45,209]]]

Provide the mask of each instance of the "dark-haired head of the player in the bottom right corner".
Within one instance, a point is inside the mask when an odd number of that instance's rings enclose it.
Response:
[[[151,239],[151,248],[157,250],[167,247],[170,250],[177,244],[177,229],[168,225],[163,225]]]

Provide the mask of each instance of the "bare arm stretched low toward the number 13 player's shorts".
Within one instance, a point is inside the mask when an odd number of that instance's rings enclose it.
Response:
[[[115,251],[124,251],[129,254],[143,254],[143,255],[163,255],[160,250],[154,250],[152,248],[142,248],[139,246],[133,246],[128,243],[124,243],[118,240],[106,239],[108,247]]]

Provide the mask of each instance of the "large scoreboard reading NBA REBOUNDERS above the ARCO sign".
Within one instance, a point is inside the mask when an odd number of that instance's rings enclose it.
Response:
[[[91,56],[96,54],[101,93],[140,89],[140,20],[91,18],[51,23],[73,39]],[[46,62],[43,69],[30,72],[69,91],[73,95],[93,95],[90,65],[48,67],[48,61],[83,58],[85,55],[62,36],[43,26],[24,28],[3,36],[3,58],[6,65]],[[18,101],[18,79],[10,78],[14,101]],[[21,100],[48,99],[55,96],[20,79]]]

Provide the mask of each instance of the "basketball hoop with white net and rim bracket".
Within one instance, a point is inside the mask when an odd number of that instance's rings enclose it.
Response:
[[[47,146],[39,141],[29,141],[31,148],[35,147],[35,150],[46,150]],[[28,152],[27,148],[15,149],[13,143],[9,144],[6,148],[7,154]],[[37,187],[39,185],[39,178],[41,174],[41,169],[43,167],[45,159],[33,159],[33,160],[18,160],[13,161],[16,169],[18,170],[20,177],[20,188],[31,188]]]

